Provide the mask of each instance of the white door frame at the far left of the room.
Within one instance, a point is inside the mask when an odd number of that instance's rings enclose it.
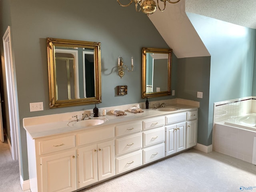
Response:
[[[4,63],[6,73],[6,87],[8,95],[8,110],[10,122],[10,137],[11,137],[11,154],[13,160],[19,160],[20,166],[20,152],[19,152],[19,137],[18,137],[18,105],[16,80],[15,80],[15,67],[12,59],[12,44],[10,26],[8,26],[4,36]],[[8,138],[7,138],[8,139]]]

